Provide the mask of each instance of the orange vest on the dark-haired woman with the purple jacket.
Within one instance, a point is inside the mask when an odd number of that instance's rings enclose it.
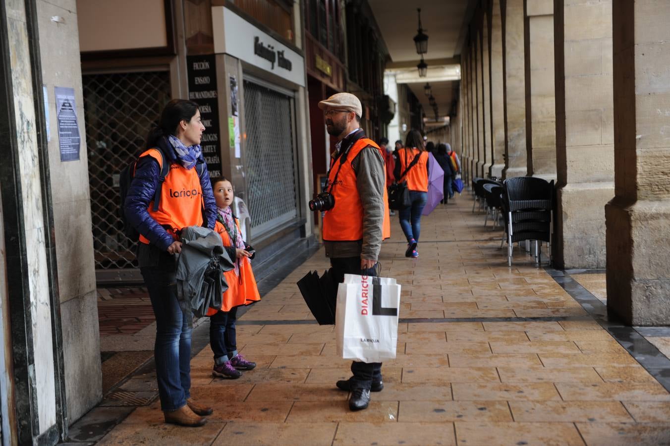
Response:
[[[140,158],[145,156],[153,157],[158,161],[159,167],[163,167],[163,157],[156,149],[149,149],[139,155]],[[158,224],[172,228],[167,232],[170,232],[176,239],[174,231],[187,226],[202,226],[203,206],[198,169],[194,167],[186,170],[180,163],[172,163],[170,173],[167,173],[163,181],[158,210],[153,210],[153,200],[151,200],[149,215]],[[149,244],[149,240],[143,235],[139,236],[139,241]]]

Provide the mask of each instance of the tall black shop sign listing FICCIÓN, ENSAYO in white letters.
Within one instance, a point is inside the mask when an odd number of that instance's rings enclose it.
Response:
[[[200,148],[207,163],[210,177],[221,175],[221,144],[218,125],[218,90],[216,89],[216,62],[214,54],[186,57],[188,98],[200,108],[205,131]]]

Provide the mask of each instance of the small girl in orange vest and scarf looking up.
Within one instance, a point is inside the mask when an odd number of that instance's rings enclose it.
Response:
[[[228,289],[223,293],[221,308],[210,308],[207,312],[210,316],[210,346],[214,352],[212,375],[237,379],[242,376],[240,370],[252,370],[256,366],[255,362],[247,361],[237,353],[237,307],[259,301],[261,296],[249,262],[254,253],[242,239],[239,222],[230,209],[232,184],[225,177],[214,177],[212,189],[218,208],[214,230],[220,234],[230,258],[236,259],[235,268],[223,273]]]

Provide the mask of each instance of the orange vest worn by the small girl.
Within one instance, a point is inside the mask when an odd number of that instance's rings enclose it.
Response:
[[[240,230],[240,224],[237,221],[237,218],[235,219],[235,224],[237,224],[237,230]],[[226,227],[218,220],[216,221],[214,230],[220,235],[223,246],[233,246],[228,231],[226,231]],[[236,259],[233,258],[232,261],[235,262]],[[249,305],[250,303],[261,300],[261,295],[258,292],[256,278],[253,275],[249,258],[241,258],[239,277],[235,274],[235,269],[231,269],[230,271],[224,271],[223,278],[226,279],[228,289],[223,292],[221,307],[210,307],[207,310],[208,316],[216,314],[219,310],[228,312],[233,307]]]

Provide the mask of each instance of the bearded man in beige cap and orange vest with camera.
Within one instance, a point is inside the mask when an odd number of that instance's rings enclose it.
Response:
[[[381,242],[391,235],[383,151],[360,128],[362,106],[356,96],[337,93],[319,102],[319,108],[328,133],[338,140],[328,171],[332,207],[323,208],[326,256],[338,282],[345,274],[377,276]],[[371,390],[379,392],[384,386],[381,362],[354,361],[351,372],[351,378],[336,386],[350,390],[349,408],[358,411],[368,406]]]

